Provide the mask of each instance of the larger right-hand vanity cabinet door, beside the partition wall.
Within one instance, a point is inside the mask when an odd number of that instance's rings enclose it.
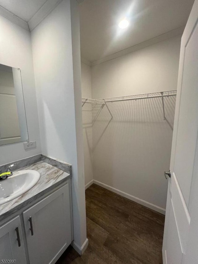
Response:
[[[55,263],[71,243],[69,183],[23,212],[30,264]]]

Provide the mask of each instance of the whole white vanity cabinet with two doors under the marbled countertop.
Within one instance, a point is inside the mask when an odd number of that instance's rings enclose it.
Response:
[[[18,214],[0,227],[0,261],[54,264],[72,241],[71,179]]]

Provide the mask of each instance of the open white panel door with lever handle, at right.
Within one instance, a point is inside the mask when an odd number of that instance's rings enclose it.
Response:
[[[164,264],[197,264],[198,0],[181,40],[178,90],[163,239]],[[193,225],[194,223],[194,225]],[[194,229],[193,229],[194,228]],[[194,232],[192,232],[192,230]],[[197,236],[194,234],[197,232]],[[191,246],[190,246],[191,245]],[[191,259],[191,260],[190,260]]]

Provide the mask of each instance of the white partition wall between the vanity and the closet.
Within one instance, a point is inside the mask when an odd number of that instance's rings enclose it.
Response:
[[[72,46],[72,32],[79,35],[77,14],[77,2],[63,0],[31,36],[42,153],[72,164],[74,241],[81,247],[86,216],[79,40]]]

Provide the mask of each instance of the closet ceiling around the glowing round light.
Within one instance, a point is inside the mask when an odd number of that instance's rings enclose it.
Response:
[[[80,5],[81,56],[93,62],[185,26],[194,0],[85,0]],[[119,29],[119,21],[130,21]]]

